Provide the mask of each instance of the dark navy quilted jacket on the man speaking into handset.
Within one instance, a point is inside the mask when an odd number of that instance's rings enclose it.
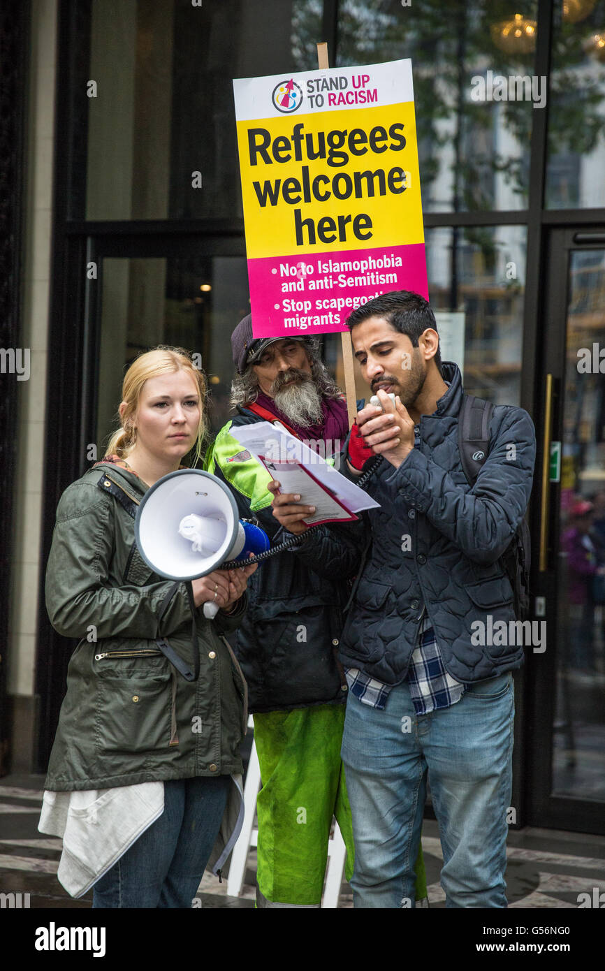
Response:
[[[489,623],[504,620],[508,628],[515,619],[513,591],[498,558],[529,501],[533,423],[521,408],[494,408],[488,457],[471,488],[457,446],[463,394],[457,365],[444,362],[443,377],[451,384],[435,413],[420,419],[420,449],[398,469],[383,460],[366,486],[381,508],[367,514],[371,552],[339,657],[387,685],[406,677],[423,606],[445,667],[458,681],[471,684],[522,663],[521,637],[484,646],[473,643],[481,638],[471,624],[485,623],[489,640]],[[310,538],[303,555],[312,554],[312,545]]]

